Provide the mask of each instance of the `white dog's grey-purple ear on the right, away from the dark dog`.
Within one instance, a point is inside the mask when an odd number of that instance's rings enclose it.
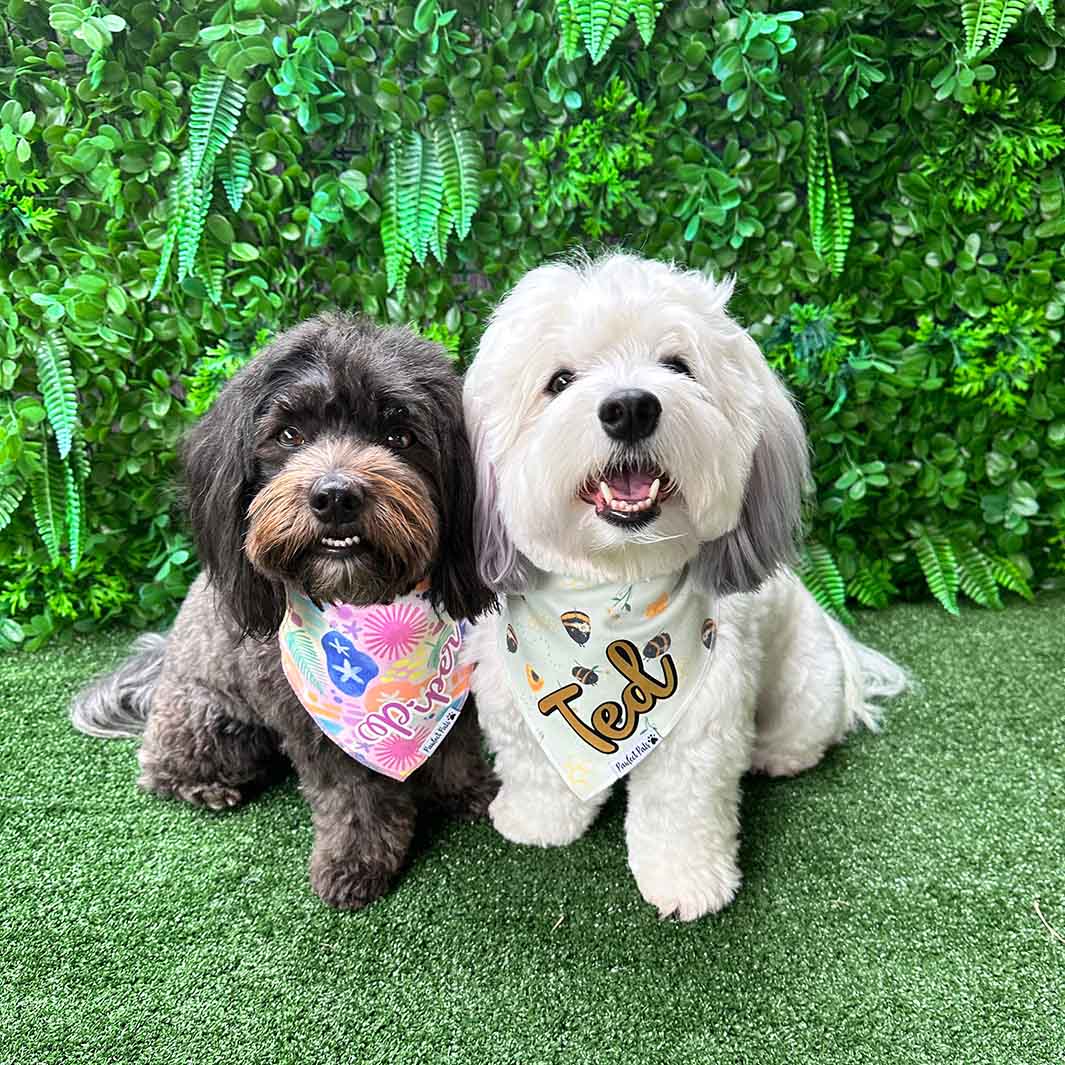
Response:
[[[764,390],[761,436],[747,478],[735,528],[703,544],[697,574],[720,594],[755,591],[782,566],[794,561],[802,529],[802,494],[809,449],[802,419],[787,389],[743,333],[749,364]]]

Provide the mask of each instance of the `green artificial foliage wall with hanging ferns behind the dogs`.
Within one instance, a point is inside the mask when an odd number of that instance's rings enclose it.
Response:
[[[832,608],[1056,579],[1061,14],[6,0],[0,643],[174,609],[176,441],[272,333],[340,306],[461,362],[577,245],[738,275]]]

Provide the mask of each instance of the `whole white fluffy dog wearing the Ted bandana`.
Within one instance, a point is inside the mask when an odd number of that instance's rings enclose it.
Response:
[[[464,393],[504,606],[471,644],[492,821],[569,843],[627,774],[633,874],[684,920],[739,887],[743,773],[816,765],[906,686],[787,569],[806,439],[731,293],[626,255],[534,269]]]

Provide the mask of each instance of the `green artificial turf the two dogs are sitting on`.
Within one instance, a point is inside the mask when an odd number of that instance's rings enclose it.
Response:
[[[922,690],[751,780],[746,882],[659,921],[615,799],[576,845],[427,826],[359,914],[311,894],[293,785],[133,787],[66,704],[129,640],[0,660],[0,1062],[1065,1061],[1065,599],[861,620]]]

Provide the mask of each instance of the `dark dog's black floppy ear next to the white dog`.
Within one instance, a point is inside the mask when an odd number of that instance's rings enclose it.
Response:
[[[477,569],[476,477],[457,381],[438,396],[440,547],[429,572],[431,600],[453,618],[476,618],[495,605]]]

